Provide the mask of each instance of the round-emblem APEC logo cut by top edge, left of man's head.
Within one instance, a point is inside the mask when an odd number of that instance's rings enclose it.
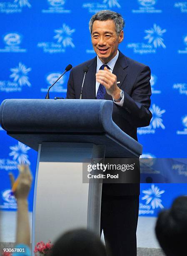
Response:
[[[67,0],[45,0],[47,7],[42,9],[42,13],[71,13],[71,10],[65,8],[66,2]]]

